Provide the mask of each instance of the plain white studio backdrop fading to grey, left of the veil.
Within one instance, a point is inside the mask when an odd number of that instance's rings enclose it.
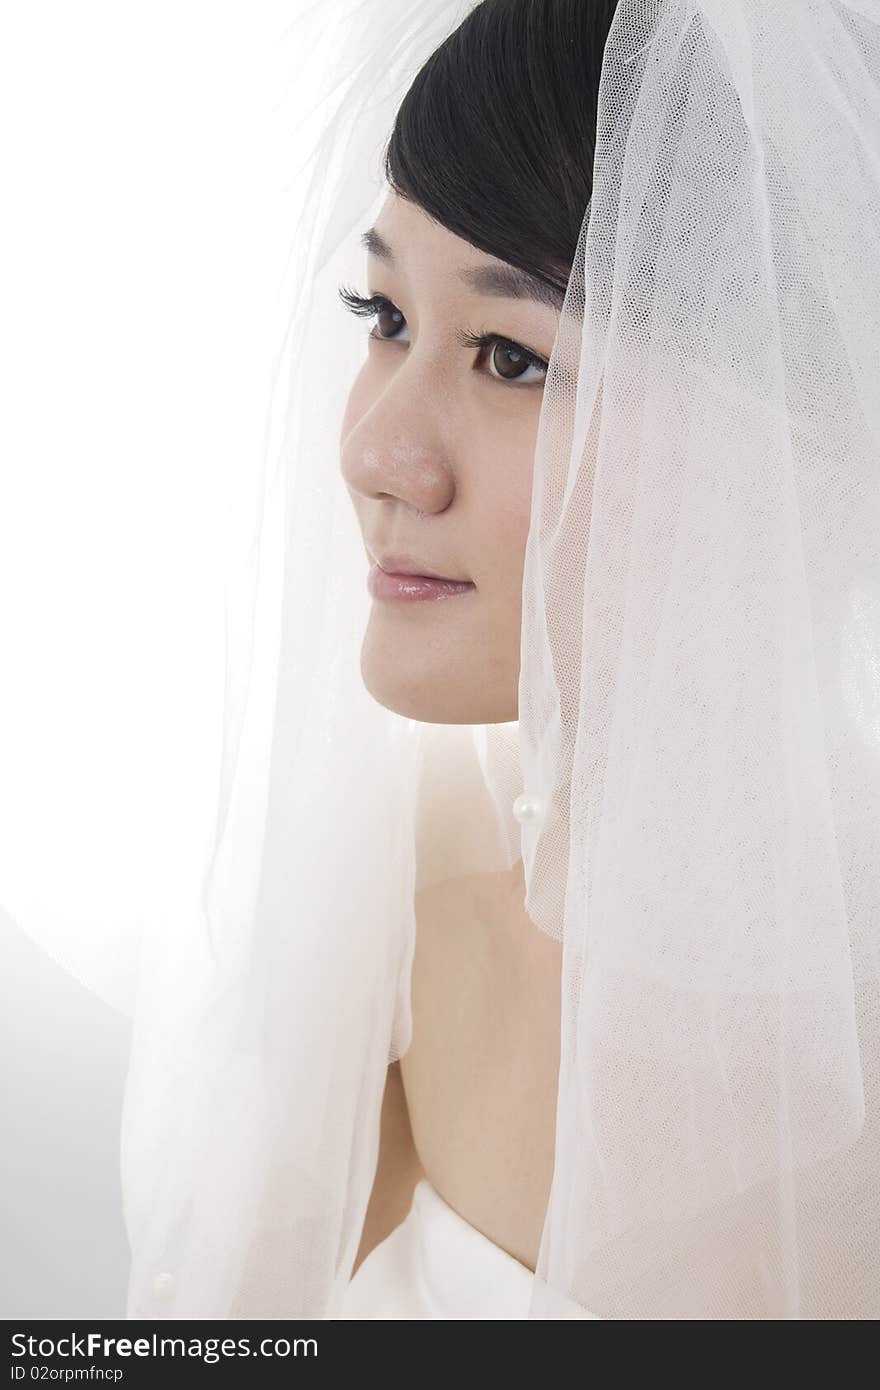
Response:
[[[124,1315],[121,1209],[90,1197],[118,1187],[106,1097],[139,931],[156,884],[197,891],[214,828],[224,592],[271,457],[311,110],[286,82],[303,8],[29,0],[0,21],[6,1318]]]

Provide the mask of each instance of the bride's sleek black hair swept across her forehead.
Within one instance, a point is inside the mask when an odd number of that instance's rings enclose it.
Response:
[[[385,177],[450,232],[564,291],[592,192],[617,0],[481,0],[418,71]]]

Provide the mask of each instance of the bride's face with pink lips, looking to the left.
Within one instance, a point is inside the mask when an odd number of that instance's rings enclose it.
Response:
[[[393,193],[373,231],[366,295],[388,303],[348,399],[341,463],[364,581],[374,560],[410,578],[371,585],[361,676],[410,719],[517,719],[532,456],[560,300]],[[412,577],[425,571],[470,587]]]

